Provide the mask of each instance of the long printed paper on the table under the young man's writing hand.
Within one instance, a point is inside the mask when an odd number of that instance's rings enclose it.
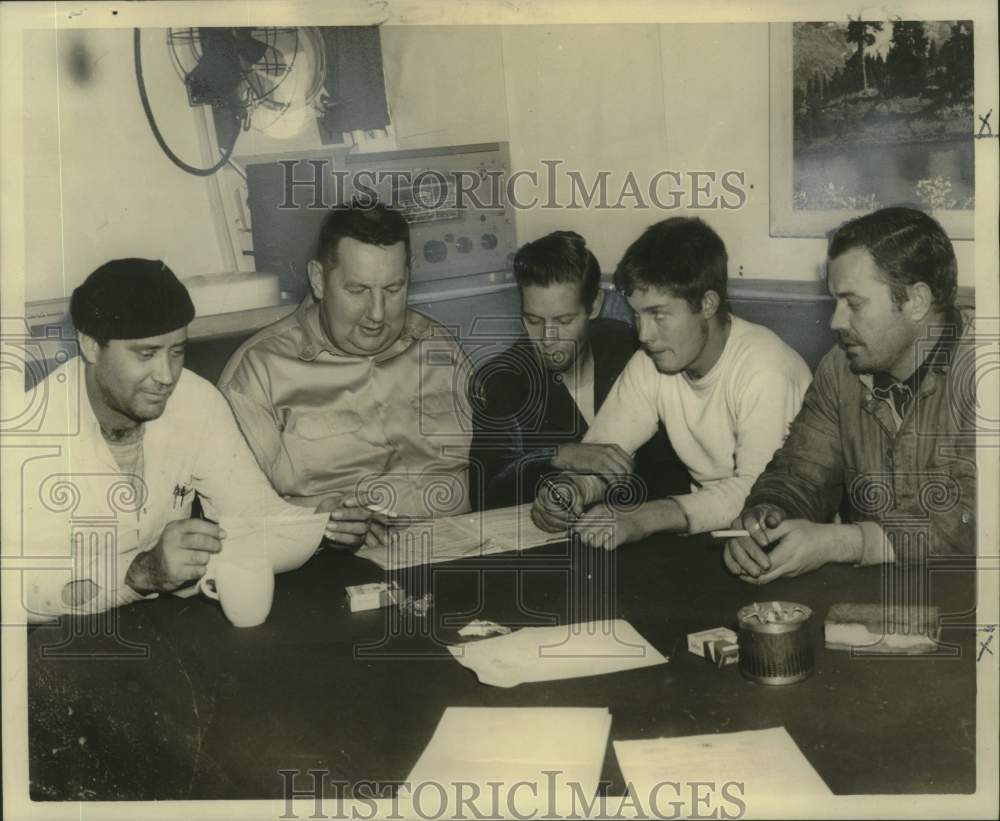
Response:
[[[391,525],[386,547],[362,548],[357,555],[383,569],[399,570],[421,564],[527,550],[566,538],[565,531],[549,533],[538,528],[531,521],[531,505],[524,504],[445,516],[405,526]]]

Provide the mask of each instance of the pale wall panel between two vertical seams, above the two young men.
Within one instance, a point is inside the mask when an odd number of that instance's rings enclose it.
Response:
[[[536,188],[518,187],[522,197],[551,199],[545,189],[552,175],[542,160],[565,161],[555,173],[555,199],[567,204],[572,190],[562,172],[577,171],[590,186],[608,171],[609,197],[617,199],[629,171],[644,182],[666,167],[656,26],[512,26],[503,47],[511,164],[543,172]],[[575,230],[604,270],[613,270],[626,244],[660,218],[632,208],[524,210],[518,241]]]

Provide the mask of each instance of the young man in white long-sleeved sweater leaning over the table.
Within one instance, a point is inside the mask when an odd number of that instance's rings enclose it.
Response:
[[[607,492],[615,477],[567,474],[535,500],[540,527],[569,525],[585,543],[613,549],[660,531],[725,528],[742,510],[811,377],[776,334],[730,314],[727,264],[722,240],[696,218],[664,220],[632,243],[615,285],[635,314],[642,349],[584,437],[633,453],[662,420],[691,492],[615,504]]]

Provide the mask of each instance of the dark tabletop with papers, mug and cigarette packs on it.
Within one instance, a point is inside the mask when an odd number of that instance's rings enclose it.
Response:
[[[352,614],[344,587],[385,574],[323,552],[277,577],[260,627],[230,626],[202,597],[164,596],[33,628],[32,798],[281,798],[279,770],[398,782],[449,706],[608,708],[610,795],[625,786],[611,740],[779,725],[836,794],[975,790],[971,565],[945,563],[924,577],[950,614],[943,641],[953,649],[910,658],[823,647],[831,605],[883,600],[882,568],[831,566],[759,588],[728,575],[721,545],[703,539],[654,538],[613,553],[550,545],[393,575],[410,593],[433,594],[425,618]],[[806,681],[754,684],[687,651],[689,632],[735,627],[739,607],[771,599],[815,613],[816,669]],[[515,627],[602,617],[627,619],[670,663],[501,689],[479,684],[446,650],[473,618]]]

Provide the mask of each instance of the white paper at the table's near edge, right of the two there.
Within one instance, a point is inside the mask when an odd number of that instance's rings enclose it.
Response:
[[[789,799],[832,795],[784,727],[615,741],[614,748],[630,794],[643,807],[653,798],[668,813],[671,801],[683,802],[678,818],[696,814],[708,818],[713,811],[740,817],[739,802],[745,804],[747,815],[770,818],[787,815]],[[695,799],[693,784],[711,787],[696,787]],[[695,806],[699,799],[708,803]]]

